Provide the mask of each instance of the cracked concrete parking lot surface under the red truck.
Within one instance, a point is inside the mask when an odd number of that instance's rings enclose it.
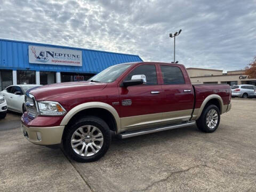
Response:
[[[0,191],[256,191],[256,100],[231,102],[214,133],[190,126],[113,138],[93,163],[33,145],[9,113],[0,121]]]

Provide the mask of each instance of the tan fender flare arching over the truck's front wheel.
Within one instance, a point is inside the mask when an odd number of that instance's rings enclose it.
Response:
[[[74,107],[73,109],[68,111],[68,113],[62,119],[60,125],[67,125],[70,119],[79,111],[90,108],[102,108],[108,110],[116,120],[117,132],[121,129],[121,120],[116,109],[104,102],[86,102]]]

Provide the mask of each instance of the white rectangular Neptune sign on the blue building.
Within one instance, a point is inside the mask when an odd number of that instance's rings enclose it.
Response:
[[[29,63],[82,66],[82,51],[45,46],[28,46]]]

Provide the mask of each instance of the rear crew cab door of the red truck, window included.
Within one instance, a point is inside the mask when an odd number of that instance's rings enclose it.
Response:
[[[194,107],[194,91],[186,69],[182,66],[161,64],[163,91],[163,119],[166,123],[188,121]]]

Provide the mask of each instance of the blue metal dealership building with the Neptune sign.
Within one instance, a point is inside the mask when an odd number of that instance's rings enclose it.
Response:
[[[84,81],[138,55],[0,39],[0,91],[16,84]]]

